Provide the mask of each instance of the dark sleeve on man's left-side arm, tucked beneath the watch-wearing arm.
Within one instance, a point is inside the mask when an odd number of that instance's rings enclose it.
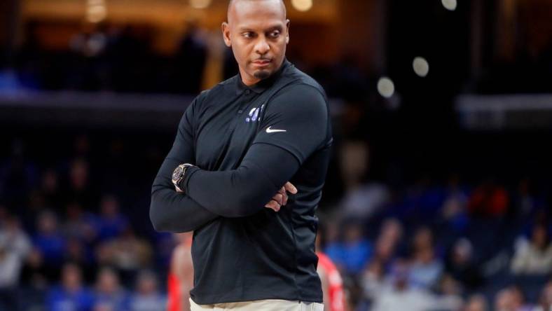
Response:
[[[182,163],[195,163],[193,147],[193,106],[182,116],[177,137],[163,161],[151,187],[149,216],[158,231],[187,232],[200,228],[219,215],[209,212],[188,195],[177,193],[172,184],[172,172]]]

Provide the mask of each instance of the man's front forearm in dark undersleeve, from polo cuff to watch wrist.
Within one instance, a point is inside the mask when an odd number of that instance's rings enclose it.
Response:
[[[288,151],[254,144],[236,170],[209,172],[189,168],[184,188],[187,195],[214,214],[249,216],[263,209],[298,167],[298,160]]]

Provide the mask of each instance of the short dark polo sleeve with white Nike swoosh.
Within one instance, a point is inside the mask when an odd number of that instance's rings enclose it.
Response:
[[[322,92],[311,85],[293,85],[268,104],[253,144],[283,148],[302,164],[326,143],[328,126],[328,109]]]

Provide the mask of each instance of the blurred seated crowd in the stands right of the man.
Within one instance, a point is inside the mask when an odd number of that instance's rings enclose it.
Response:
[[[322,235],[352,310],[550,310],[546,186],[451,174],[396,188],[366,180],[366,144],[339,152],[345,191]]]

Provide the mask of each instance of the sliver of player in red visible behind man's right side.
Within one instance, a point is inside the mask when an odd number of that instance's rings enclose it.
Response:
[[[324,311],[345,311],[345,292],[343,291],[343,279],[336,265],[322,252],[322,239],[324,230],[319,224],[316,236],[316,254],[318,256],[317,272],[322,282],[322,295]]]

